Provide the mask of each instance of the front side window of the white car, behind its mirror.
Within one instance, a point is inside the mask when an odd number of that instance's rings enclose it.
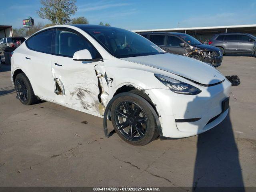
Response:
[[[98,51],[82,36],[67,30],[57,30],[55,54],[73,57],[75,52],[83,49],[89,50],[93,59],[100,58]]]

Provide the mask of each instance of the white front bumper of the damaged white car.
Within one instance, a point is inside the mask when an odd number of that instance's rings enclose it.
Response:
[[[230,86],[230,82],[225,80],[216,86],[201,87],[202,92],[194,96],[176,94],[167,89],[147,90],[160,116],[162,136],[194,136],[218,125],[228,114],[228,110],[222,113],[222,101],[229,96]],[[201,119],[195,122],[175,121],[192,118]]]

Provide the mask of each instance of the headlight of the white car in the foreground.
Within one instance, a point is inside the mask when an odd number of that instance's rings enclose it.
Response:
[[[196,95],[202,92],[200,89],[176,79],[166,77],[160,74],[155,74],[156,78],[160,80],[165,86],[170,88],[171,91],[179,94]]]

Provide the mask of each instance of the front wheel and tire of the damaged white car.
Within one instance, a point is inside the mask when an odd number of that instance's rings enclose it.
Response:
[[[148,105],[141,96],[121,96],[114,100],[111,120],[122,140],[134,146],[143,146],[156,138],[156,120]]]

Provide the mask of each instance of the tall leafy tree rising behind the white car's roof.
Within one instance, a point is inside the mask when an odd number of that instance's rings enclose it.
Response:
[[[70,22],[70,16],[77,11],[76,0],[40,0],[42,7],[36,11],[53,25]]]

